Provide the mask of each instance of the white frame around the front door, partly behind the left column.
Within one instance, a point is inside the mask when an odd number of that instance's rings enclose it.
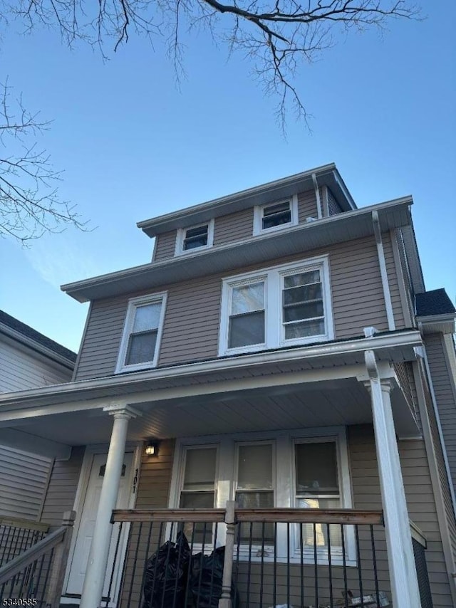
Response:
[[[73,535],[71,537],[70,550],[68,552],[68,565],[66,567],[65,580],[63,582],[63,590],[61,597],[61,604],[78,604],[80,598],[78,597],[64,597],[66,590],[68,589],[68,580],[70,578],[71,565],[73,563],[73,555],[76,546],[76,538],[78,538],[79,526],[81,525],[81,514],[83,510],[84,500],[86,499],[86,493],[88,490],[88,481],[90,478],[90,471],[93,463],[93,456],[97,454],[108,454],[109,444],[94,444],[92,446],[86,446],[84,452],[83,463],[81,465],[81,473],[79,474],[78,488],[76,490],[76,497],[74,500],[73,510],[76,511],[76,520],[73,527]],[[138,485],[140,478],[140,468],[142,460],[142,442],[127,441],[125,444],[125,452],[133,452],[133,462],[130,471],[130,478],[127,483],[130,484],[130,498],[128,500],[128,508],[134,509],[136,504],[136,496],[138,494]],[[136,479],[135,479],[136,478]],[[135,486],[133,484],[135,483]],[[125,538],[128,538],[128,528],[125,528]],[[118,553],[118,565],[123,564],[125,559],[125,552],[127,550],[127,543],[123,550],[120,549]],[[117,602],[117,597],[114,598],[114,603]]]

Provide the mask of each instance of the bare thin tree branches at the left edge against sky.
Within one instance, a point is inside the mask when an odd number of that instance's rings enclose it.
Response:
[[[21,98],[10,104],[6,81],[0,85],[0,235],[26,243],[68,225],[86,230],[74,207],[58,198],[61,174],[34,142],[49,123],[27,112]]]

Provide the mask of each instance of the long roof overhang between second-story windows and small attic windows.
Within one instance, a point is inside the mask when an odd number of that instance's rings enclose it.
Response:
[[[373,211],[378,213],[381,231],[409,226],[411,204],[411,196],[405,196],[402,199],[317,219],[308,224],[292,226],[274,234],[237,241],[235,247],[232,243],[216,246],[188,256],[177,256],[170,260],[68,283],[62,285],[61,289],[75,300],[86,302],[228,272],[296,253],[306,253],[323,246],[373,236]]]

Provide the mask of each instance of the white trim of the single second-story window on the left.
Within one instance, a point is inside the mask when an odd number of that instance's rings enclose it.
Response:
[[[148,295],[140,295],[138,298],[131,298],[128,300],[127,314],[125,315],[125,323],[122,330],[122,340],[120,341],[119,356],[117,365],[115,367],[115,373],[121,372],[136,372],[140,369],[148,369],[150,367],[157,367],[158,355],[160,353],[160,344],[162,341],[163,323],[165,320],[167,292],[162,291],[160,293],[151,293]],[[133,329],[133,323],[135,321],[135,311],[138,306],[145,304],[161,303],[162,308],[160,310],[160,320],[158,322],[157,329],[157,340],[155,342],[155,352],[152,361],[145,361],[142,363],[135,363],[133,365],[125,365],[125,357],[127,356],[128,340],[130,339],[130,333]]]

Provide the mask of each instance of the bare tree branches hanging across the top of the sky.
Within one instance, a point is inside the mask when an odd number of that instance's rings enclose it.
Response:
[[[306,118],[296,73],[333,46],[338,31],[385,28],[391,19],[418,19],[413,0],[6,0],[0,21],[9,16],[26,28],[57,28],[68,44],[76,40],[118,48],[131,31],[151,40],[169,33],[177,73],[182,68],[180,31],[207,28],[229,54],[241,52],[266,93],[278,100],[282,122],[289,103]]]

